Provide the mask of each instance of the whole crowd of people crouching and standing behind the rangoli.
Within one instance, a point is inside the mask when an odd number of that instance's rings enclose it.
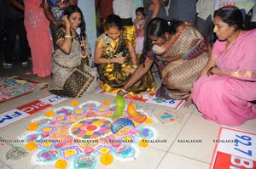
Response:
[[[132,1],[113,0],[110,14],[102,16],[94,56],[77,0],[9,3],[24,15],[7,22],[16,29],[7,26],[8,50],[19,33],[22,65],[30,47],[33,74],[51,76],[50,93],[77,98],[94,92],[99,80],[104,91],[121,96],[147,92],[186,99],[185,106],[194,103],[204,118],[219,124],[239,126],[256,118],[256,30],[244,26],[235,3],[215,10],[212,1],[148,0],[135,9]],[[12,66],[11,59],[6,53],[3,65]]]

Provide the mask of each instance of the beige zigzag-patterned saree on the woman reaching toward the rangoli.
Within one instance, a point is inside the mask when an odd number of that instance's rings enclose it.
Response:
[[[209,57],[204,37],[192,25],[185,23],[183,30],[177,33],[177,39],[170,47],[157,55],[157,59],[167,63],[160,65],[163,81],[157,95],[185,99]]]

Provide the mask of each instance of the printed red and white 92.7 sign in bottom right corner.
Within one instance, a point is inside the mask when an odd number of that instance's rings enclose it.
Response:
[[[211,169],[256,168],[256,132],[220,127]]]

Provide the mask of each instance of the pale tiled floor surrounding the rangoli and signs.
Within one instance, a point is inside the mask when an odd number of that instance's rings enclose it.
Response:
[[[30,71],[28,67],[21,67],[19,64],[15,65],[15,68],[6,69],[1,67],[1,76],[20,76],[26,79],[34,79],[32,75],[25,75],[25,72]],[[17,99],[10,100],[0,104],[0,112],[3,113],[7,110],[14,109],[22,104],[30,103],[34,100],[44,98],[48,96],[49,93],[47,89],[40,90]],[[102,102],[108,99],[113,102],[112,96],[102,97],[99,93],[90,94],[80,98],[80,102],[85,102],[86,100],[97,100]],[[55,107],[60,107],[61,105],[70,104],[70,99],[62,102],[61,104],[55,105]],[[108,169],[207,169],[210,166],[212,159],[213,150],[215,144],[212,139],[217,139],[218,131],[220,125],[213,121],[205,120],[201,114],[196,110],[195,105],[190,105],[189,108],[181,108],[179,113],[183,114],[183,119],[180,123],[173,122],[169,124],[161,124],[154,114],[158,112],[166,111],[166,107],[161,107],[153,104],[144,104],[141,102],[136,102],[142,110],[144,110],[149,117],[153,119],[151,124],[152,127],[158,131],[158,138],[165,139],[165,144],[149,144],[147,148],[140,148],[140,155],[134,161],[118,161],[113,160],[113,163],[108,166],[102,166],[101,162],[98,161],[95,166],[96,169],[108,168]],[[50,109],[54,109],[51,107]],[[48,110],[48,109],[47,109]],[[170,110],[170,109],[168,109]],[[0,136],[2,138],[14,139],[19,136],[22,132],[26,131],[27,125],[32,119],[39,115],[44,115],[46,110],[31,115],[25,120],[15,122],[9,127],[5,127],[0,130]],[[242,129],[247,129],[251,131],[256,131],[256,120],[247,121],[241,127]],[[201,140],[201,143],[179,143],[179,140]],[[17,146],[24,147],[23,144],[18,144]],[[9,145],[0,144],[0,168],[15,168],[15,169],[30,169],[30,168],[54,168],[54,166],[36,166],[32,165],[30,158],[32,152],[29,155],[18,160],[10,161],[7,160],[5,155],[10,149]]]

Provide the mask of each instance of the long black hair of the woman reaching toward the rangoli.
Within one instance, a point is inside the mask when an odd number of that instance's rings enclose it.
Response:
[[[148,51],[150,51],[153,46],[152,41],[148,38],[148,36],[165,38],[166,32],[174,35],[177,32],[177,27],[182,23],[183,22],[180,20],[167,21],[161,18],[154,18],[150,20],[147,27],[147,37],[145,37],[143,54],[140,58],[140,64],[143,64]]]

